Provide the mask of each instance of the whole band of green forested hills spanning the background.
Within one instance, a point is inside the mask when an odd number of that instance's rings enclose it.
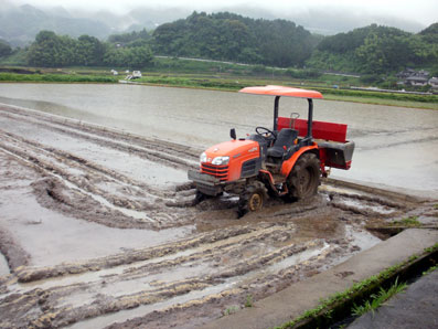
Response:
[[[438,23],[419,33],[372,24],[332,36],[311,34],[286,20],[250,19],[229,12],[193,12],[154,31],[73,39],[40,31],[31,46],[11,50],[0,40],[0,61],[19,65],[129,66],[153,64],[153,55],[355,72],[378,76],[405,67],[438,72]],[[15,62],[17,63],[17,62]]]

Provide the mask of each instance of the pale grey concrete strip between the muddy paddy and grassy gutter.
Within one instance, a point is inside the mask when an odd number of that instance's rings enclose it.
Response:
[[[321,298],[343,291],[354,283],[419,254],[438,242],[438,231],[412,229],[359,253],[329,270],[258,300],[254,307],[225,316],[202,328],[258,329],[280,326],[318,306]],[[372,327],[368,327],[372,328]]]

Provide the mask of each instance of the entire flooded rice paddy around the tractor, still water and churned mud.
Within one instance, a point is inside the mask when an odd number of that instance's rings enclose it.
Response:
[[[193,328],[386,237],[370,225],[408,215],[437,221],[431,202],[339,181],[325,181],[311,200],[271,199],[242,219],[229,195],[195,205],[186,170],[203,147],[227,139],[229,127],[244,135],[271,125],[273,99],[243,96],[1,85],[0,102],[20,107],[0,105],[0,327]],[[353,168],[361,153],[383,152],[383,140],[394,153],[437,142],[432,113],[400,109],[402,129],[388,125],[392,108],[346,105],[318,102],[316,119],[352,123]],[[427,183],[398,185],[434,190],[435,157],[420,157],[423,176],[414,172]],[[384,182],[396,179],[397,166],[382,164],[395,172]]]

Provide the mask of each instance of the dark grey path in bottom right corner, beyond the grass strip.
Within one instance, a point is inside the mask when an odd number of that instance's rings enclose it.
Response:
[[[438,328],[438,270],[421,277],[374,312],[367,312],[349,329]]]

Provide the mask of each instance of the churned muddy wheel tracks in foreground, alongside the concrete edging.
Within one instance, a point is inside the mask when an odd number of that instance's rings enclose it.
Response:
[[[26,303],[19,303],[15,308],[15,298],[6,298],[1,305],[4,308],[13,309],[15,314],[28,314],[30,309],[35,307],[41,309],[41,312],[31,312],[33,317],[24,317],[25,326],[53,326],[55,328],[68,326],[72,323],[82,323],[85,320],[90,320],[93,323],[94,319],[108,314],[118,311],[128,311],[130,309],[137,309],[140,307],[149,307],[145,319],[148,317],[157,316],[158,314],[168,312],[181,312],[186,308],[197,306],[196,311],[201,311],[204,308],[213,307],[217,311],[217,300],[221,299],[221,306],[224,303],[231,303],[231,300],[244,300],[245,296],[255,296],[263,298],[274,291],[277,291],[286,285],[297,282],[307,273],[312,275],[318,273],[323,266],[327,266],[327,262],[333,262],[336,257],[342,254],[349,254],[349,244],[346,242],[332,241],[330,247],[325,253],[318,253],[310,258],[302,259],[298,264],[290,266],[284,266],[277,270],[266,272],[258,274],[255,277],[246,279],[244,283],[235,285],[233,288],[228,288],[226,285],[227,280],[235,280],[238,277],[245,276],[248,273],[265,269],[270,265],[279,264],[287,257],[308,251],[309,248],[321,248],[323,246],[322,240],[309,240],[307,243],[300,243],[298,245],[289,244],[284,247],[277,247],[270,253],[259,253],[254,257],[242,257],[245,251],[250,247],[258,246],[260,243],[274,243],[278,244],[282,241],[287,241],[293,233],[293,224],[258,224],[256,226],[248,225],[244,227],[233,227],[223,230],[222,232],[209,232],[201,234],[200,236],[191,240],[185,240],[179,243],[171,243],[167,246],[159,246],[152,250],[143,250],[142,252],[120,255],[118,258],[102,258],[94,259],[84,265],[84,269],[99,272],[99,262],[104,268],[113,268],[116,264],[129,264],[132,267],[126,267],[122,272],[113,275],[103,275],[97,280],[87,283],[71,283],[67,285],[52,286],[50,288],[38,288],[30,291],[19,294],[15,296],[19,300],[26,300]],[[209,246],[210,245],[210,246]],[[207,247],[209,246],[209,247]],[[178,253],[184,253],[189,248],[200,247],[202,252],[194,251],[182,256],[178,256]],[[138,265],[141,259],[154,261],[157,257],[169,256],[175,254],[177,257],[172,259],[161,259],[157,263]],[[171,280],[171,282],[150,282],[149,289],[141,289],[140,291],[120,296],[105,295],[105,286],[117,286],[124,282],[136,280],[142,277],[153,278],[153,274],[162,274],[165,270],[173,270],[175,266],[194,266],[193,263],[204,264],[212,262],[221,262],[217,258],[234,257],[237,259],[236,264],[232,266],[222,266],[222,269],[217,266],[211,266],[215,268],[215,272],[210,275],[185,277],[183,279]],[[241,261],[242,258],[242,261]],[[333,258],[332,261],[330,261]],[[213,261],[212,261],[213,259]],[[312,262],[310,261],[312,259]],[[120,263],[121,261],[121,263]],[[118,263],[119,262],[119,263]],[[137,265],[136,265],[137,263]],[[310,265],[311,264],[311,265]],[[89,266],[89,267],[87,267]],[[135,266],[135,267],[133,267]],[[229,268],[228,268],[229,266]],[[68,267],[68,266],[67,266]],[[39,274],[36,274],[40,270]],[[79,265],[72,265],[68,273],[79,273]],[[51,278],[60,275],[60,266],[45,268],[45,274],[41,269],[35,269],[32,273],[18,273],[20,280],[32,282],[33,279]],[[49,276],[46,276],[49,274]],[[33,276],[32,276],[33,275]],[[145,285],[145,282],[141,283]],[[209,289],[212,293],[215,291],[216,287],[223,287],[216,294],[207,294]],[[84,294],[84,291],[90,290],[88,295],[99,291],[94,298],[87,299],[86,304],[81,301],[81,305],[72,306],[65,301],[66,296]],[[206,290],[206,291],[205,291]],[[94,293],[93,293],[94,291]],[[193,294],[197,298],[190,298],[185,300],[184,296]],[[67,298],[68,299],[68,298]],[[173,304],[179,304],[178,307],[170,306],[161,309],[159,307],[163,301],[175,300]],[[181,303],[180,303],[181,301]],[[158,305],[157,307],[153,305]],[[153,312],[151,314],[151,311]],[[210,310],[204,310],[210,312]],[[145,320],[143,319],[143,320]],[[100,320],[98,320],[100,321]],[[163,322],[163,327],[167,327]],[[136,327],[136,326],[133,326]],[[132,327],[132,328],[133,328]]]

